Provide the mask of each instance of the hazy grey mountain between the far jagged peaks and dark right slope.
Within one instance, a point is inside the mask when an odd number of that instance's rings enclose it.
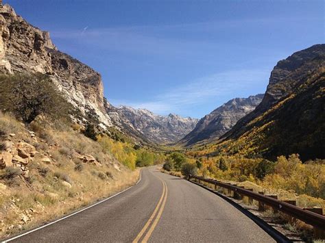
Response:
[[[195,129],[182,138],[180,143],[189,146],[202,140],[219,138],[229,131],[240,118],[252,112],[262,99],[263,94],[231,99],[199,120]]]

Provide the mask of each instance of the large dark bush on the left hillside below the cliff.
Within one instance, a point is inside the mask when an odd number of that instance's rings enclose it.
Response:
[[[0,75],[0,107],[25,123],[40,114],[68,118],[71,110],[51,79],[40,73]]]

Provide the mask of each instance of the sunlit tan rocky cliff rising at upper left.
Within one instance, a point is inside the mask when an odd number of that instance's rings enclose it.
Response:
[[[85,116],[112,126],[104,108],[101,75],[56,49],[49,32],[27,23],[10,5],[0,7],[0,73],[47,73]]]

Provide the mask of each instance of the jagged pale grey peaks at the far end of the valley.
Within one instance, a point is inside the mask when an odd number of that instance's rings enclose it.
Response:
[[[168,116],[156,115],[149,110],[134,109],[128,106],[115,107],[109,114],[115,112],[112,118],[115,123],[124,127],[132,127],[150,142],[165,144],[176,142],[189,133],[197,124],[198,119],[183,118],[176,114]]]

